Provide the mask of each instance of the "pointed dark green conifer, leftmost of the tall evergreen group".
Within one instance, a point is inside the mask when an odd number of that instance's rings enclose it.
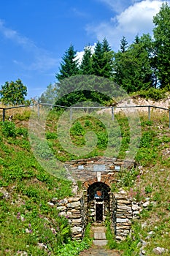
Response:
[[[79,68],[78,68],[78,61],[75,60],[77,51],[74,50],[74,46],[70,45],[69,49],[66,50],[65,54],[63,55],[63,61],[61,62],[61,68],[59,69],[59,73],[56,74],[56,78],[59,82],[64,78],[69,78],[72,75],[77,75]]]

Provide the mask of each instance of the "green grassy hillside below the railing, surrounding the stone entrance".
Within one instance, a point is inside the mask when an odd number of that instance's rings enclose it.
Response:
[[[41,111],[45,113],[45,110]],[[48,205],[53,197],[61,199],[72,195],[71,183],[62,176],[56,176],[53,170],[47,172],[41,161],[51,159],[50,163],[53,164],[53,156],[59,162],[64,162],[106,154],[124,158],[131,129],[128,118],[121,113],[115,115],[115,126],[110,116],[80,114],[75,119],[73,116],[71,123],[68,121],[69,113],[65,113],[66,118],[63,116],[60,120],[63,111],[56,113],[55,110],[49,110],[45,132],[35,125],[36,137],[41,139],[37,140],[38,143],[35,141],[39,158],[31,151],[28,140],[31,136],[28,133],[28,110],[26,113],[20,112],[20,116],[16,114],[12,122],[0,124],[0,255],[16,255],[19,252],[28,252],[28,255],[69,255],[72,252],[72,255],[78,255],[80,250],[89,246],[88,235],[82,243],[70,241],[68,219],[59,217],[55,208]],[[39,120],[40,124],[44,124],[41,116],[38,119],[36,112],[33,115],[37,123]],[[134,220],[131,236],[126,241],[115,244],[110,235],[111,230],[109,239],[110,246],[120,249],[124,255],[139,255],[138,244],[142,239],[147,241],[144,247],[146,254],[152,256],[152,249],[156,246],[169,249],[170,252],[169,117],[155,110],[151,113],[151,121],[144,113],[139,116],[142,136],[135,156],[137,165],[130,173],[123,173],[120,182],[112,189],[116,191],[118,187],[123,187],[139,203],[150,197],[150,206],[142,211],[139,219]],[[90,140],[97,138],[95,145],[92,143],[88,146],[88,149],[91,147],[93,150],[88,152],[87,149],[87,154],[79,155],[63,148],[60,132],[66,134],[68,129],[70,141],[80,149],[87,144],[85,134],[93,132],[88,134]],[[43,136],[47,144],[42,140]],[[47,148],[47,145],[50,147]],[[62,173],[61,166],[57,165],[57,168]],[[46,167],[50,170],[51,166]],[[169,255],[169,252],[164,255]]]

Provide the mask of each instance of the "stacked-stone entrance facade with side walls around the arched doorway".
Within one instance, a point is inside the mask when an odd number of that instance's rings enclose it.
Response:
[[[88,211],[88,187],[95,182],[102,182],[111,186],[117,181],[117,173],[124,168],[131,169],[134,162],[120,161],[107,157],[93,157],[66,162],[66,170],[73,181],[73,197],[63,200],[53,199],[59,214],[69,219],[72,228],[72,238],[82,239],[85,227],[89,221]],[[82,181],[83,189],[78,193],[77,181]],[[92,205],[91,205],[92,206]],[[95,209],[92,209],[94,214]],[[112,228],[115,231],[117,241],[123,241],[131,232],[131,221],[139,216],[140,206],[132,202],[128,194],[120,189],[117,193],[109,192],[109,211]],[[104,210],[105,214],[105,210]],[[106,214],[105,214],[106,215]],[[104,216],[104,219],[106,216]]]

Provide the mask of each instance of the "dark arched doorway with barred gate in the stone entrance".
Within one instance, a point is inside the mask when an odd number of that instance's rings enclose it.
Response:
[[[110,188],[103,182],[88,187],[88,221],[103,222],[110,209]]]

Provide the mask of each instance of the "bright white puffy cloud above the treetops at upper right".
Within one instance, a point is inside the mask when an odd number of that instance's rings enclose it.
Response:
[[[101,0],[114,7],[112,0]],[[116,1],[117,2],[117,1]],[[152,18],[159,12],[163,3],[161,0],[131,0],[128,8],[120,12],[114,18],[110,18],[108,22],[101,22],[97,26],[88,25],[87,31],[89,34],[95,33],[98,40],[106,37],[109,44],[114,50],[117,50],[120,45],[120,39],[126,37],[129,43],[134,40],[136,34],[142,35],[152,34],[153,23]]]

